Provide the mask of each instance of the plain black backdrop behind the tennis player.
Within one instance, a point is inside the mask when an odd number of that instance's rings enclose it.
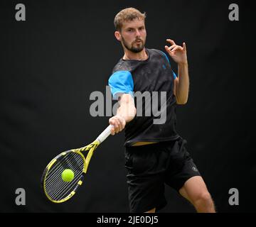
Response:
[[[15,6],[26,6],[26,21]],[[228,6],[238,4],[239,21]],[[255,211],[254,40],[250,1],[1,1],[0,211],[128,212],[124,133],[102,143],[79,194],[52,204],[41,174],[58,153],[92,142],[109,117],[90,116],[90,94],[105,94],[122,57],[114,16],[129,6],[146,11],[146,48],[166,38],[186,42],[190,96],[178,106],[177,129],[198,165],[219,212]],[[177,72],[175,62],[171,61]],[[15,191],[26,190],[26,206]],[[230,206],[230,188],[239,206]],[[166,187],[161,212],[195,212]]]

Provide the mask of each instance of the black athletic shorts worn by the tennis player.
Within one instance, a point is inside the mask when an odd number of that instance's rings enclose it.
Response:
[[[164,183],[178,192],[186,180],[200,176],[185,144],[186,140],[178,138],[126,148],[130,212],[163,208],[166,206]]]

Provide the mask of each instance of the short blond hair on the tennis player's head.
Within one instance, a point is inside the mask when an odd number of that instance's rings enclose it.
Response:
[[[117,31],[121,31],[123,23],[126,21],[133,21],[134,19],[139,19],[145,21],[146,13],[141,13],[135,8],[126,8],[119,11],[114,17],[114,27]]]

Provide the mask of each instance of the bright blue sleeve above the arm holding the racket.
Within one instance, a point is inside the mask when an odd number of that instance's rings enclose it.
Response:
[[[133,94],[134,82],[132,74],[129,71],[114,72],[108,80],[111,93],[115,100],[118,99],[119,93]]]

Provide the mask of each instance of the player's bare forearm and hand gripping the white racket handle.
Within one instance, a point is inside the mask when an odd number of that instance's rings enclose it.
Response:
[[[118,103],[119,107],[117,109],[117,114],[109,120],[110,124],[114,126],[111,130],[112,135],[122,131],[126,123],[132,121],[136,115],[134,99],[130,94],[121,94],[121,96],[119,96]]]

